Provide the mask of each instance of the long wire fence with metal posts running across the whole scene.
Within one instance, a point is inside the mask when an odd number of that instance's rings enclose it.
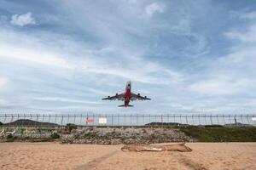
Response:
[[[80,126],[143,126],[151,125],[256,125],[256,115],[226,114],[0,114],[0,122],[4,126],[54,126],[55,123],[65,126],[73,123]],[[26,121],[25,121],[26,120]],[[27,120],[31,120],[27,121]],[[103,120],[100,121],[100,120]],[[49,124],[45,124],[49,122]],[[157,122],[157,123],[155,123]]]

